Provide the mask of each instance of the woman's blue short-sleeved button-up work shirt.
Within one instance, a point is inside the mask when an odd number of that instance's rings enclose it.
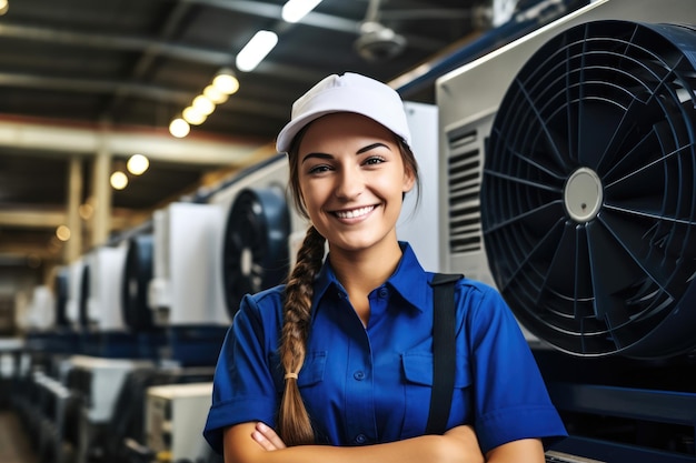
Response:
[[[411,248],[369,294],[366,326],[325,263],[298,385],[318,437],[367,445],[422,435],[432,389],[432,273]],[[328,262],[328,261],[327,261]],[[203,435],[222,452],[226,426],[276,426],[284,391],[278,345],[284,288],[247,295],[222,344]],[[499,293],[460,280],[455,289],[455,393],[447,429],[474,424],[484,452],[525,437],[566,435],[529,346]]]

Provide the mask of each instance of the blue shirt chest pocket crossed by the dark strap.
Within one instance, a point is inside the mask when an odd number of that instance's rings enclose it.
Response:
[[[401,356],[406,414],[401,439],[422,435],[430,412],[432,394],[432,354],[407,352]],[[456,359],[449,426],[471,421],[471,372],[465,358]]]

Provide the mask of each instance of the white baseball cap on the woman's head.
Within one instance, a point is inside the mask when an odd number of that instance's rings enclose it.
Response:
[[[401,97],[389,85],[365,76],[346,72],[322,79],[292,103],[290,122],[276,141],[278,152],[288,152],[305,125],[334,112],[355,112],[379,122],[410,144],[410,130]]]

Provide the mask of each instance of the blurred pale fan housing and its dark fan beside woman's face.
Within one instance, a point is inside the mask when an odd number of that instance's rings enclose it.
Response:
[[[208,199],[225,211],[211,264],[231,322],[241,298],[287,278],[307,222],[288,198],[288,161],[279,154],[221,184]]]

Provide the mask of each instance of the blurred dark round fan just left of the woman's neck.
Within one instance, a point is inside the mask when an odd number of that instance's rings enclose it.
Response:
[[[241,190],[225,228],[222,278],[227,312],[239,310],[245,294],[281,283],[288,275],[290,212],[281,188]]]

